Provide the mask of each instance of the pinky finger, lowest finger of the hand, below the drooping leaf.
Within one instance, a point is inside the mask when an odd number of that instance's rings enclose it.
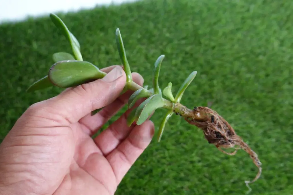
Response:
[[[106,156],[115,173],[117,184],[150,144],[153,136],[154,123],[147,120],[142,125],[135,126],[129,136]]]

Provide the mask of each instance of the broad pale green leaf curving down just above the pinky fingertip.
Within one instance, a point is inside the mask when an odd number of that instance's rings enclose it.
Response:
[[[158,108],[162,108],[166,105],[161,94],[155,94],[145,101],[143,101],[136,110],[135,118],[137,119],[137,125],[141,125],[147,118]]]

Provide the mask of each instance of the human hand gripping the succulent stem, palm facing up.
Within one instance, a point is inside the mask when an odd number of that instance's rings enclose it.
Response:
[[[133,93],[120,96],[126,82],[121,66],[103,71],[110,73],[33,104],[17,120],[0,145],[0,194],[115,193],[149,145],[154,125],[147,120],[128,127],[128,110],[91,138]],[[143,84],[139,74],[132,77]],[[91,116],[91,111],[104,106]]]

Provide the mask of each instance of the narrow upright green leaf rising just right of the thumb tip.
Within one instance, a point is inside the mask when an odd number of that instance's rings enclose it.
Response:
[[[119,28],[116,29],[116,43],[117,43],[120,59],[122,61],[124,71],[126,74],[126,82],[131,82],[132,81],[131,70],[130,70],[129,63],[127,61],[126,52],[125,52],[125,48],[124,48],[124,44],[123,44],[123,40],[122,40],[122,36],[121,36]]]

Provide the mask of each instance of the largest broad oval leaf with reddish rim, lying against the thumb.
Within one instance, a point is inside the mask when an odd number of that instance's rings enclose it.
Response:
[[[49,79],[58,87],[74,87],[105,75],[92,63],[77,60],[59,61],[49,70]]]

